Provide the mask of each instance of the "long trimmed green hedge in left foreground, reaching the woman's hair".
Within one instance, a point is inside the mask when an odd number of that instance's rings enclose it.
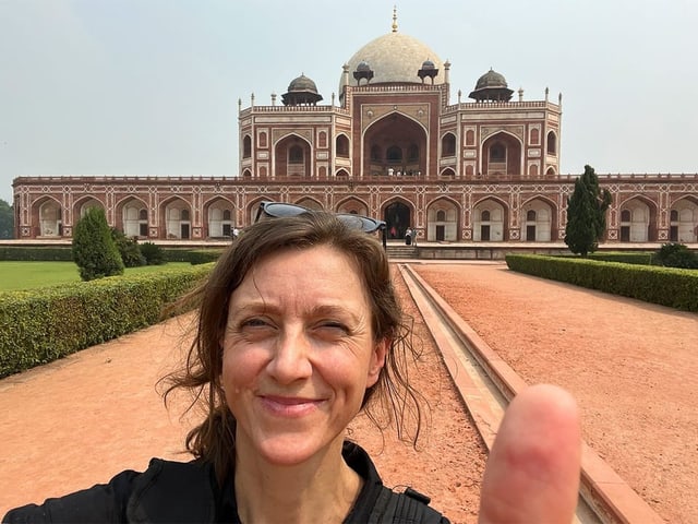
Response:
[[[0,378],[159,322],[212,267],[0,294]]]

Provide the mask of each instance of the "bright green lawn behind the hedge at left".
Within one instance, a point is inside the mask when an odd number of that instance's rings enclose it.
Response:
[[[129,267],[125,274],[153,273],[189,265],[189,262],[169,262],[165,265]],[[36,289],[75,282],[81,281],[73,262],[0,262],[0,291]]]

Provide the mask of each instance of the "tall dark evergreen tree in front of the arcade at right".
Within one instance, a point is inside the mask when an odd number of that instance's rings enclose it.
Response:
[[[585,174],[575,180],[575,191],[567,198],[565,243],[575,254],[592,253],[606,229],[606,211],[611,193],[599,187],[593,167],[585,166]]]

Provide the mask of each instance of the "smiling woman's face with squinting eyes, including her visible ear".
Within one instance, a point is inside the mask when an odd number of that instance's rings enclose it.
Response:
[[[238,454],[293,465],[341,442],[386,346],[347,257],[320,246],[263,259],[232,293],[224,337]]]

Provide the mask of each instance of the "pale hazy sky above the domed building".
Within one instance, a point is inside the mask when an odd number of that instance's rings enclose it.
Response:
[[[698,171],[696,0],[0,0],[0,199],[17,176],[237,175],[238,99],[304,73],[328,104],[394,4],[452,103],[490,68],[562,93],[563,174]]]

